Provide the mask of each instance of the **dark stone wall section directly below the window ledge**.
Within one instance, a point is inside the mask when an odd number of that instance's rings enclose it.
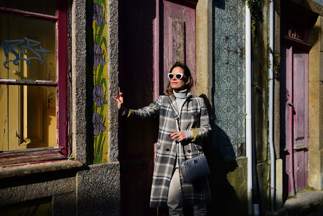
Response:
[[[75,175],[69,170],[3,179],[0,206],[49,197],[52,215],[75,215]]]

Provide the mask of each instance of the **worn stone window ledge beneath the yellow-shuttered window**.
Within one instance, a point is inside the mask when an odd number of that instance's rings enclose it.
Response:
[[[21,177],[30,174],[39,174],[48,171],[66,170],[82,167],[84,164],[78,160],[51,160],[28,163],[18,163],[0,166],[0,179]]]

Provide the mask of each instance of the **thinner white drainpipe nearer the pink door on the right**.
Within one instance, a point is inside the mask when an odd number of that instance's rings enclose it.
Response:
[[[269,47],[274,52],[274,1],[269,3]],[[271,152],[271,207],[272,210],[275,209],[275,195],[276,195],[276,188],[275,188],[275,148],[274,148],[274,141],[273,141],[273,115],[274,115],[274,58],[273,53],[270,52],[269,54],[270,60],[270,68],[269,68],[269,80],[268,80],[268,87],[269,87],[269,101],[268,101],[268,142],[270,146]]]

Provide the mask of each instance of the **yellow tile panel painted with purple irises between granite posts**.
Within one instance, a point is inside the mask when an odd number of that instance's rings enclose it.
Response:
[[[106,1],[87,1],[87,162],[107,162]]]

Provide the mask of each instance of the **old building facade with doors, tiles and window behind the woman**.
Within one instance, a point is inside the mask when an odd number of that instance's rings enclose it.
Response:
[[[209,215],[323,189],[322,2],[40,2],[0,3],[0,214],[167,214],[149,208],[158,120],[115,97],[148,105],[176,61],[212,123]]]

